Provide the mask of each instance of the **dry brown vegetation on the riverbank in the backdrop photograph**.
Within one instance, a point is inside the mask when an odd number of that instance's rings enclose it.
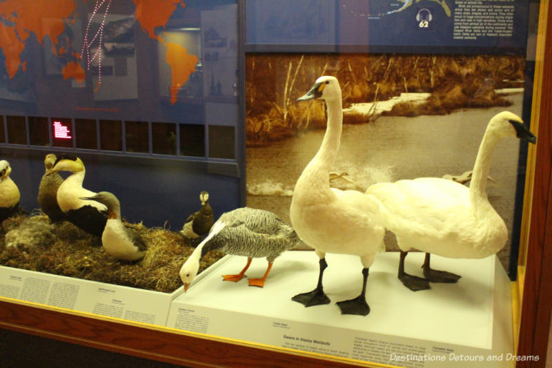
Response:
[[[431,93],[426,102],[400,103],[386,115],[443,115],[458,108],[508,106],[495,89],[522,86],[524,64],[523,57],[511,55],[247,55],[247,145],[324,128],[324,104],[296,101],[321,75],[339,79],[344,107],[423,92]],[[349,114],[344,124],[375,118]]]

